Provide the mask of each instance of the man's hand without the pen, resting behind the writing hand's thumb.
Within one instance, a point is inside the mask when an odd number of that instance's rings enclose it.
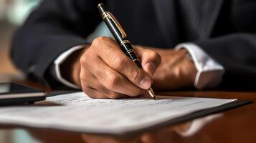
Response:
[[[193,87],[197,69],[185,49],[153,49],[160,54],[162,62],[153,75],[156,89],[180,89]]]

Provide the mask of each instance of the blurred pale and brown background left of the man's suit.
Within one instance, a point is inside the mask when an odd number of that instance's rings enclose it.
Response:
[[[0,0],[0,82],[24,78],[9,59],[11,36],[40,1]]]

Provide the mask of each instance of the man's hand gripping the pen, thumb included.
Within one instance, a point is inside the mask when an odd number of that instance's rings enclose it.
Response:
[[[145,93],[143,89],[151,87],[151,75],[161,63],[161,57],[150,49],[134,49],[140,53],[143,69],[138,68],[113,39],[96,38],[80,58],[73,60],[71,81],[93,98],[116,99]]]

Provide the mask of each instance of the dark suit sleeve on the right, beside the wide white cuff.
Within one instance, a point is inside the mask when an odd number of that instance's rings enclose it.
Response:
[[[229,34],[195,43],[224,66],[225,72],[219,88],[252,89],[256,87],[255,34]]]

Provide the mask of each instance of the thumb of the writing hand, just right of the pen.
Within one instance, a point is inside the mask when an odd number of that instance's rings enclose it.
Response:
[[[156,51],[144,49],[141,46],[134,46],[134,49],[138,58],[141,59],[143,70],[152,77],[157,67],[161,64],[161,56]]]

